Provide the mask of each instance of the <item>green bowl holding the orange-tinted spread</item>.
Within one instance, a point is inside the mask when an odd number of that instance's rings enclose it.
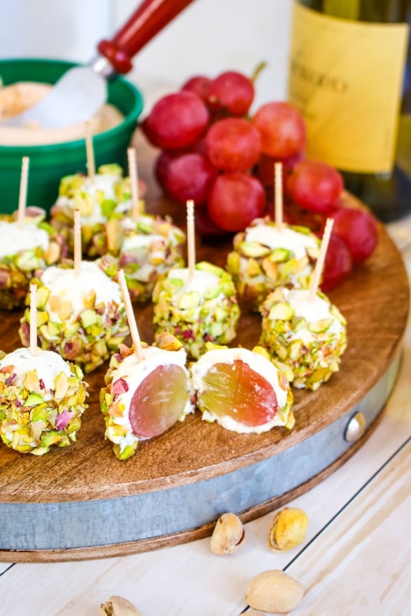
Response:
[[[0,60],[3,85],[16,81],[39,81],[54,84],[73,62],[60,60]],[[108,84],[108,103],[124,115],[123,122],[93,138],[95,164],[117,162],[127,168],[127,147],[138,116],[142,111],[142,95],[132,84],[118,77]],[[49,211],[55,203],[60,179],[64,175],[86,172],[84,140],[36,146],[0,146],[0,212],[10,214],[18,207],[21,159],[29,157],[27,205]]]

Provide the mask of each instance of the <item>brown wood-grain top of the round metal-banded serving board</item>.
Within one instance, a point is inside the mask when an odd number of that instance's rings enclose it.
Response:
[[[155,188],[152,161],[153,151],[139,146],[140,177],[149,184],[147,210],[170,214],[184,227],[184,207],[170,203]],[[346,198],[351,200],[350,196]],[[197,260],[223,266],[231,246],[230,239],[214,246],[198,240]],[[99,389],[107,369],[104,365],[86,377],[90,407],[84,414],[76,444],[43,457],[0,447],[0,501],[113,498],[206,480],[271,457],[334,422],[354,407],[384,374],[406,326],[406,270],[382,225],[371,259],[357,266],[349,279],[329,296],[347,318],[349,345],[340,372],[327,385],[317,392],[294,391],[296,425],[291,432],[274,428],[263,435],[238,435],[202,422],[201,415],[195,413],[164,435],[143,442],[131,459],[121,462],[114,457],[110,441],[104,440],[105,426],[99,411]],[[136,306],[135,313],[142,339],[151,343],[151,305]],[[17,333],[20,316],[18,312],[1,313],[5,333],[0,337],[0,348],[5,352],[21,346]],[[258,342],[259,335],[259,316],[243,311],[233,344],[251,347]]]

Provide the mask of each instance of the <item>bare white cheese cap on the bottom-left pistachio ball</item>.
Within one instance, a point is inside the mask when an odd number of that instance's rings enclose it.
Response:
[[[45,384],[42,396],[45,400],[50,400],[50,389],[55,388],[55,379],[64,372],[66,376],[71,376],[71,369],[58,353],[49,350],[38,348],[36,355],[30,353],[29,348],[17,348],[8,355],[5,355],[0,361],[0,369],[6,365],[14,365],[16,380],[14,383],[23,387],[23,380],[27,372],[36,370],[38,378],[41,378]]]

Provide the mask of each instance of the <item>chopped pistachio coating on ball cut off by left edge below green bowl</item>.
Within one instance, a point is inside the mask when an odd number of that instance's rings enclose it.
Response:
[[[12,310],[22,307],[29,291],[30,280],[48,266],[58,263],[66,255],[64,238],[50,224],[45,222],[46,211],[39,207],[27,207],[25,211],[25,230],[44,231],[46,246],[32,246],[16,253],[0,257],[0,308]],[[4,223],[13,223],[15,217],[0,216]],[[1,226],[1,233],[8,233],[7,227]],[[10,238],[9,238],[10,240]]]

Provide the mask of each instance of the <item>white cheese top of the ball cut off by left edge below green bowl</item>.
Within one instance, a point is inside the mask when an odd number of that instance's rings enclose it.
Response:
[[[23,224],[19,229],[17,222],[0,221],[0,257],[16,255],[20,251],[37,247],[47,251],[49,245],[49,234],[35,224]]]

